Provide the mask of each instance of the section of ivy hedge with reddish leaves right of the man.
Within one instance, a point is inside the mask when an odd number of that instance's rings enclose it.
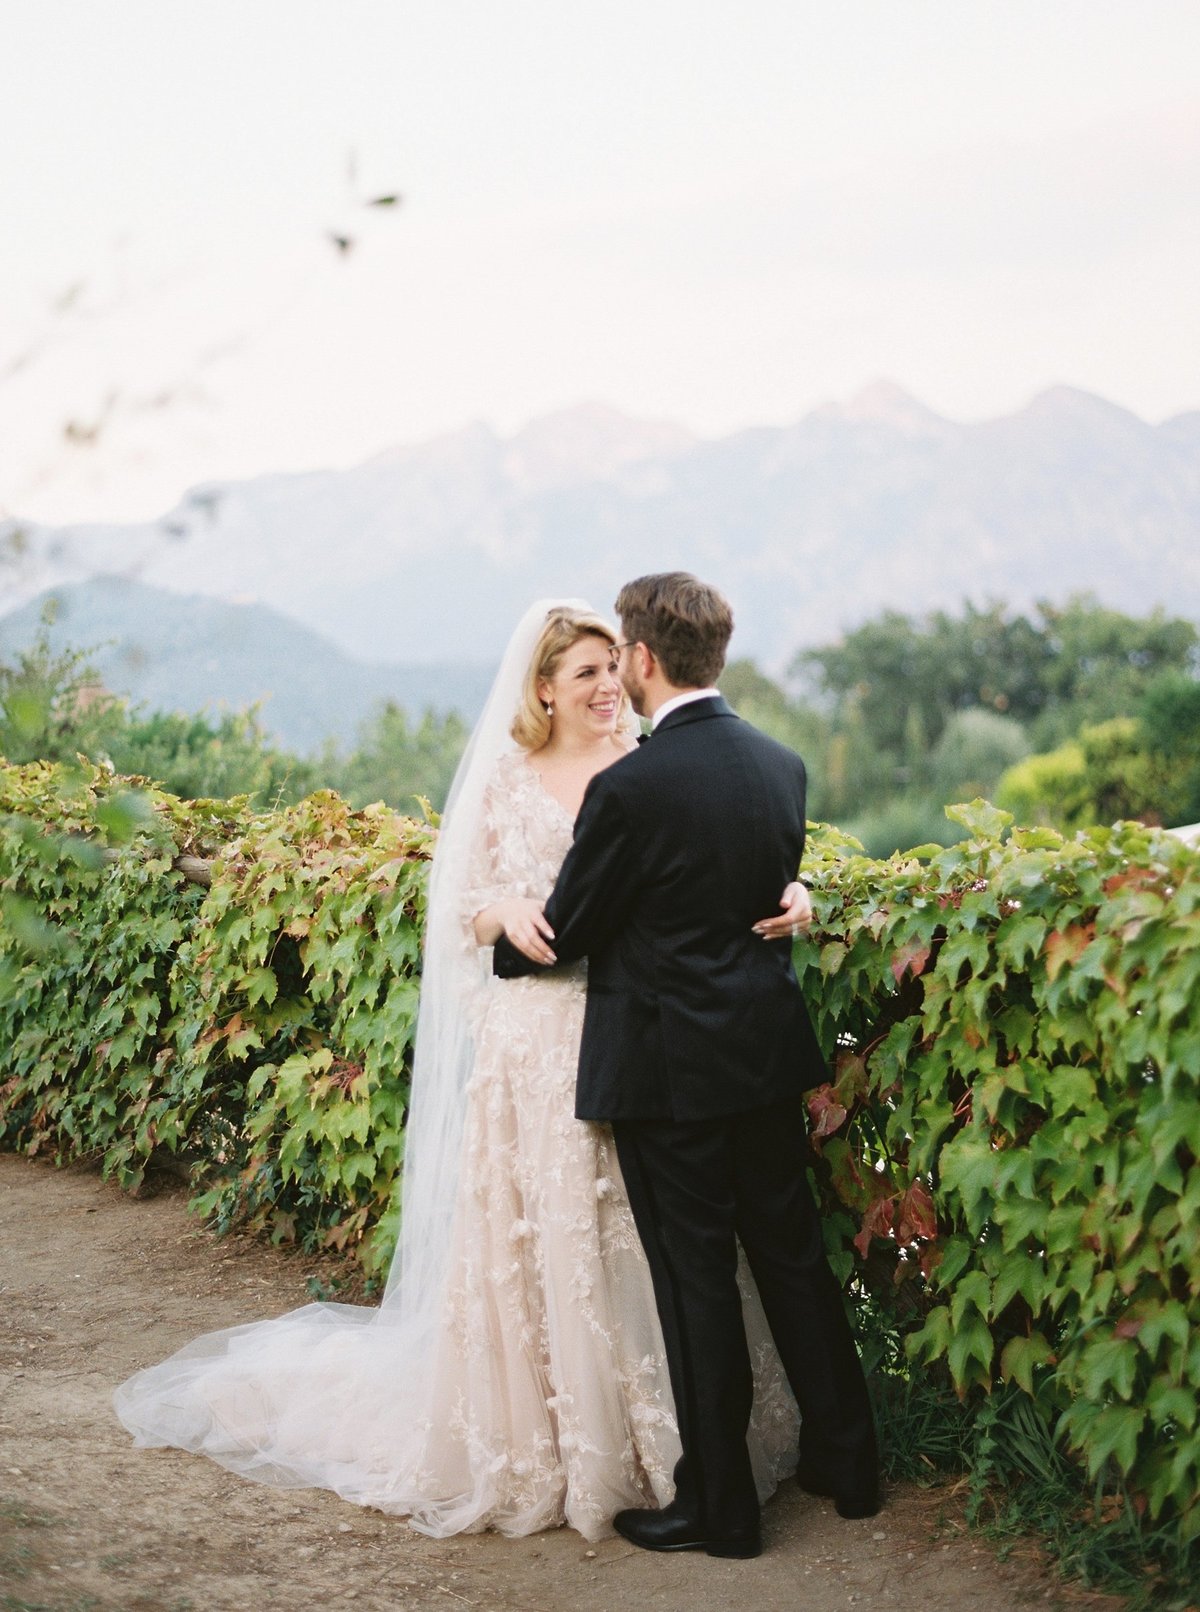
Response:
[[[908,1314],[913,1361],[1019,1385],[1195,1539],[1200,858],[1139,824],[950,816],[968,840],[887,862],[813,837],[831,1256]]]

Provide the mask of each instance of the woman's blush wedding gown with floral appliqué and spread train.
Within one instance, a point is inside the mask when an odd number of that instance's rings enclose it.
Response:
[[[545,899],[571,819],[523,753],[502,758],[471,869],[471,916]],[[479,967],[490,953],[479,954]],[[306,1306],[213,1333],[139,1372],[116,1409],[139,1444],[245,1477],[331,1488],[432,1535],[611,1533],[665,1504],[679,1456],[645,1254],[605,1125],[574,1119],[585,964],[481,982],[452,1257],[429,1365],[406,1370],[387,1311]],[[760,1493],[795,1464],[798,1419],[745,1277]]]

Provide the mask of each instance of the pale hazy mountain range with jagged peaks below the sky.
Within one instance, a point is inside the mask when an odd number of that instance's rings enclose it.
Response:
[[[0,580],[10,608],[102,574],[250,601],[411,667],[494,661],[542,593],[608,609],[627,577],[685,567],[732,598],[734,653],[777,669],[885,608],[963,598],[1090,590],[1197,619],[1198,535],[1200,413],[1148,426],[1056,387],[956,424],[877,384],[719,440],[598,405],[515,437],[469,426],[350,471],[194,488],[153,524],[26,526]]]

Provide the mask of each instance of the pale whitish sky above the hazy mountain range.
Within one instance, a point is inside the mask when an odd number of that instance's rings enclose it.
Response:
[[[1200,406],[1195,0],[0,0],[0,517],[590,400]]]

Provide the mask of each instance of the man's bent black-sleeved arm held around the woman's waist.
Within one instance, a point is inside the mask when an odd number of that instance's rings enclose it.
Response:
[[[605,774],[587,787],[576,819],[574,841],[545,904],[555,932],[553,964],[532,962],[506,935],[492,951],[492,972],[502,980],[544,974],[547,967],[577,962],[598,949],[624,922],[637,890],[637,845],[624,804]]]

